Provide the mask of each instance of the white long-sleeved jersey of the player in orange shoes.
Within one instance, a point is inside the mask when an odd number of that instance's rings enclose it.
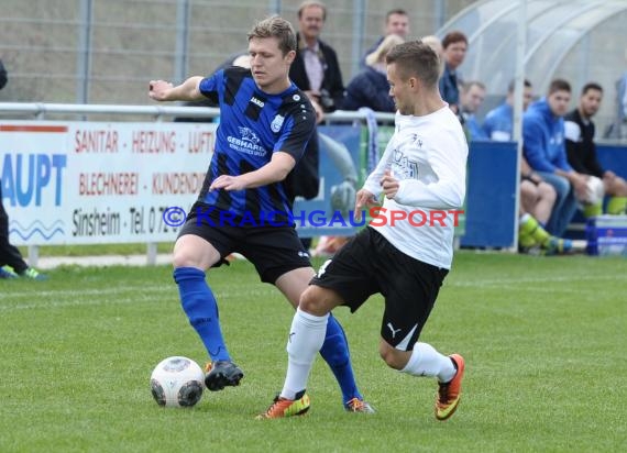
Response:
[[[396,113],[395,128],[364,189],[378,198],[387,169],[400,187],[394,199],[385,198],[370,226],[400,252],[449,269],[455,222],[449,211],[461,210],[465,197],[469,147],[462,126],[442,107],[424,117]]]

